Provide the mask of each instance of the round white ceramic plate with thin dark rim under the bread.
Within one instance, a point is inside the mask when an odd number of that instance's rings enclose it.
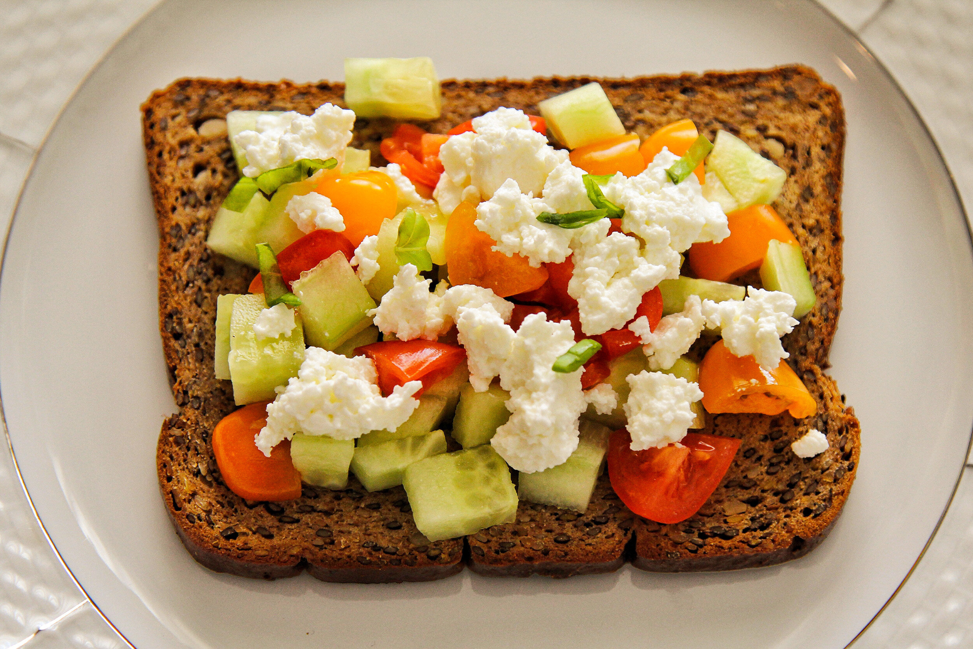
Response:
[[[845,310],[833,375],[861,418],[845,513],[788,564],[567,581],[273,583],[200,567],[159,499],[174,411],[138,105],[183,76],[342,79],[342,57],[428,54],[446,77],[634,76],[802,62],[847,109]],[[10,437],[54,544],[141,649],[841,647],[905,578],[955,487],[973,401],[970,241],[948,173],[870,54],[810,2],[162,5],[67,106],[18,206],[0,293]]]

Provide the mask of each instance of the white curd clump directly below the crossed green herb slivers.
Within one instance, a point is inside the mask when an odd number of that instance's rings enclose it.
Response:
[[[588,336],[624,327],[642,296],[669,272],[642,256],[638,239],[606,235],[610,227],[609,220],[602,219],[574,231],[578,238],[572,246],[574,273],[567,293],[578,301],[581,328]]]

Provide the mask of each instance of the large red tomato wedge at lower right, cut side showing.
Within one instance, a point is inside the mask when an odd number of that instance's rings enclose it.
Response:
[[[625,428],[608,442],[611,487],[632,512],[656,523],[679,523],[696,514],[733,463],[740,440],[689,433],[681,447],[631,450]]]

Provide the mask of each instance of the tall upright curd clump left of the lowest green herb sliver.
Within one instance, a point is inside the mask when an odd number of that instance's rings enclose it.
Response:
[[[578,417],[588,408],[581,389],[583,370],[551,369],[573,345],[568,322],[548,322],[543,313],[533,313],[523,319],[500,370],[500,386],[510,392],[506,405],[511,415],[490,444],[518,471],[557,466],[578,447]]]

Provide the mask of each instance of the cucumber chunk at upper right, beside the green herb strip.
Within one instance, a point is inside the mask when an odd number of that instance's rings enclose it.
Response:
[[[716,133],[706,168],[716,172],[739,209],[774,202],[787,180],[786,171],[725,130]]]

